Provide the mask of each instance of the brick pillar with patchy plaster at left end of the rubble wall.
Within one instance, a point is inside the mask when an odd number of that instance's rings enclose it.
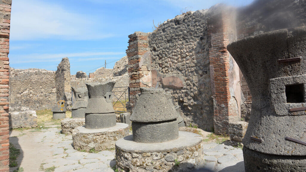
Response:
[[[141,57],[149,50],[148,34],[144,32],[135,32],[129,35],[129,46],[126,50],[128,56],[128,73],[129,73],[129,103],[127,109],[132,111],[136,103],[136,95],[140,93],[140,87],[147,87],[140,82],[144,77],[144,68],[140,67]]]

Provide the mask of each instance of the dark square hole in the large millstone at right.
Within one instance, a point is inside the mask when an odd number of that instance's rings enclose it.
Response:
[[[285,86],[287,103],[304,103],[304,84]]]

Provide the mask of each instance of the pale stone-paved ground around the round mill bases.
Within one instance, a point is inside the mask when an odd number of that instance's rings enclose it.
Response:
[[[40,142],[50,152],[40,161],[39,171],[55,168],[54,172],[114,172],[112,169],[116,163],[114,150],[98,153],[76,151],[73,149],[72,136],[60,134],[60,129],[57,128],[43,129],[42,132],[32,132],[31,134],[33,134],[30,136],[33,138],[32,144]],[[23,143],[19,142],[19,144],[23,148]],[[35,146],[39,145],[33,147]],[[240,148],[217,143],[204,143],[203,149],[207,168],[220,172],[244,172],[243,155]],[[24,152],[24,154],[26,153]],[[21,163],[21,167],[25,165],[25,163]]]

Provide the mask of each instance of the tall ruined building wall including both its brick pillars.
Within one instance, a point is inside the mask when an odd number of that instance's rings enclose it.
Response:
[[[226,46],[258,33],[305,25],[305,4],[259,0],[237,9],[216,5],[178,15],[151,33],[129,35],[129,108],[141,87],[164,88],[181,107],[187,125],[228,134],[230,122],[248,120],[252,96]]]

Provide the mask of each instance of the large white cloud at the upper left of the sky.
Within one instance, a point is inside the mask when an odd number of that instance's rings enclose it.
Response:
[[[114,36],[100,33],[92,17],[70,12],[62,6],[40,0],[14,0],[11,13],[11,40],[102,39]]]

